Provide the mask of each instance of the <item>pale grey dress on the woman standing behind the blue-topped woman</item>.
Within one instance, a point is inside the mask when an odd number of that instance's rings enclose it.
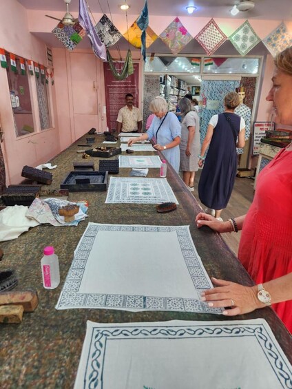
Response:
[[[180,140],[180,170],[183,171],[198,171],[198,154],[200,154],[200,119],[195,111],[189,112],[183,122],[182,137]],[[189,138],[189,126],[195,127],[195,136],[191,144],[191,155],[186,156],[187,141]]]

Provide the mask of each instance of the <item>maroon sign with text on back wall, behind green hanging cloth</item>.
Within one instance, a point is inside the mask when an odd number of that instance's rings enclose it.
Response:
[[[121,72],[123,69],[123,62],[114,63],[116,70]],[[103,70],[105,74],[105,104],[107,107],[107,127],[111,131],[116,129],[116,118],[118,111],[125,104],[125,95],[132,93],[134,96],[134,105],[138,107],[138,81],[139,81],[139,64],[134,63],[134,74],[125,78],[125,80],[116,80],[110,70],[107,62],[103,63]]]

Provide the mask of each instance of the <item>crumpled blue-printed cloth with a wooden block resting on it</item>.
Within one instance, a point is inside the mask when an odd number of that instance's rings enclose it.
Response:
[[[59,215],[59,209],[69,204],[79,205],[79,213],[74,215],[72,222],[65,222],[64,216]],[[87,218],[86,212],[88,207],[84,202],[70,202],[57,198],[40,199],[35,198],[26,216],[30,219],[37,220],[41,224],[52,224],[55,227],[59,226],[77,226],[79,222]]]

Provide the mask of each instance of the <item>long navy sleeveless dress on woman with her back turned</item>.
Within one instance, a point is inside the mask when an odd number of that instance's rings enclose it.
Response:
[[[240,131],[240,116],[228,112],[236,129]],[[218,123],[213,129],[213,136],[205,159],[198,185],[202,204],[211,209],[227,207],[236,179],[238,159],[231,129],[224,114],[218,115]]]

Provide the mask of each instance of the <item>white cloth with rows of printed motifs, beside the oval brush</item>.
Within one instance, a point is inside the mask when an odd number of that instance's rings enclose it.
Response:
[[[128,204],[175,202],[178,204],[166,178],[111,177],[105,202]]]

